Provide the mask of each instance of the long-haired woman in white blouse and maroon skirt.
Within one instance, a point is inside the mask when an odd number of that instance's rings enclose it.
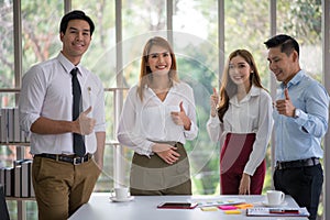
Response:
[[[272,98],[263,88],[252,54],[237,50],[222,75],[220,98],[210,97],[207,131],[220,141],[220,186],[223,195],[260,195],[271,138]]]

